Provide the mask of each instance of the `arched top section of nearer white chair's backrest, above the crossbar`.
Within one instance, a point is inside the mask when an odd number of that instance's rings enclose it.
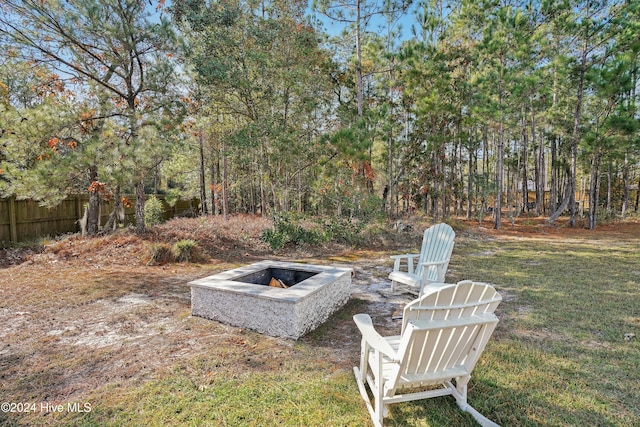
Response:
[[[442,320],[493,313],[502,297],[487,283],[464,280],[458,284],[426,291],[408,303],[402,315],[402,331],[410,321]]]

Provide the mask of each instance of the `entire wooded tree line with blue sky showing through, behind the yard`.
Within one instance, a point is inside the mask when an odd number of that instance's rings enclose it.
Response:
[[[139,232],[151,193],[225,216],[490,211],[496,228],[638,211],[636,0],[0,9],[0,194],[88,192],[90,233],[130,192]]]

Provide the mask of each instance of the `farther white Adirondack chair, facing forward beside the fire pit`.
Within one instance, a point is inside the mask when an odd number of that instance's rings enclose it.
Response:
[[[424,286],[443,283],[455,236],[456,233],[448,224],[436,224],[425,230],[419,254],[391,256],[394,260],[393,271],[389,274],[391,291],[396,292],[400,284],[407,291],[421,295]],[[406,262],[403,263],[403,260]]]

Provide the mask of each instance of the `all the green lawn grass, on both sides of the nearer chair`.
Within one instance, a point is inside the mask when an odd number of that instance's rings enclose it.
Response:
[[[640,425],[640,236],[626,241],[461,238],[450,281],[490,282],[502,293],[498,328],[469,385],[469,401],[503,426]],[[354,261],[354,262],[357,262]],[[364,426],[369,415],[351,366],[336,363],[354,301],[263,363],[232,350],[180,360],[154,378],[94,390],[88,414],[48,425]],[[335,342],[334,342],[335,338]],[[249,333],[247,346],[271,348]],[[358,341],[354,338],[353,341]],[[246,351],[246,350],[245,350]],[[249,351],[250,353],[250,351]],[[291,356],[291,355],[289,355]],[[51,374],[55,374],[52,371]],[[15,418],[2,418],[7,425]],[[18,420],[19,421],[19,420]],[[55,421],[55,422],[54,422]],[[53,424],[52,424],[53,423]],[[473,426],[453,399],[396,404],[388,426]]]

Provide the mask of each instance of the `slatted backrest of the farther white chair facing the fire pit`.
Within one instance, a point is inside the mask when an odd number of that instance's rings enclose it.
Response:
[[[422,236],[422,249],[420,250],[420,258],[416,266],[416,275],[422,277],[426,273],[426,278],[430,281],[441,282],[444,277],[438,277],[438,271],[445,272],[449,267],[451,252],[453,252],[453,244],[456,237],[455,231],[450,225],[445,223],[436,224],[427,228]],[[423,271],[421,263],[432,261],[446,260],[446,264],[438,270],[436,267],[427,267],[427,271]],[[444,273],[443,273],[444,274]]]

